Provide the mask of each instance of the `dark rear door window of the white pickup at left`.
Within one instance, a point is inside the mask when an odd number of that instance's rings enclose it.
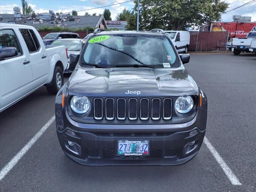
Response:
[[[40,49],[40,44],[33,30],[20,29],[20,33],[22,34],[30,53]]]

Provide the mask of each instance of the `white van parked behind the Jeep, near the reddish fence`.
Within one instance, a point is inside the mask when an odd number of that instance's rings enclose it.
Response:
[[[178,52],[188,52],[190,34],[188,31],[164,31],[172,39],[172,43]]]

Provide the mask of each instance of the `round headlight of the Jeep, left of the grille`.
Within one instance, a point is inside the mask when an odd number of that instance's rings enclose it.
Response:
[[[86,96],[73,96],[70,101],[70,106],[74,112],[83,114],[88,112],[91,103]]]

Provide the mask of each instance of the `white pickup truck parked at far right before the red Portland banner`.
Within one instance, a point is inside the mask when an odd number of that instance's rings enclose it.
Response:
[[[256,38],[256,31],[248,33],[246,38],[233,38],[231,44],[231,50],[235,55],[239,55],[241,52],[249,53],[252,38]]]

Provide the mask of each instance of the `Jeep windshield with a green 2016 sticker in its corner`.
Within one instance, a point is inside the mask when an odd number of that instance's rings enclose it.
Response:
[[[92,36],[82,54],[81,65],[112,67],[177,68],[180,66],[170,40],[153,34]]]

